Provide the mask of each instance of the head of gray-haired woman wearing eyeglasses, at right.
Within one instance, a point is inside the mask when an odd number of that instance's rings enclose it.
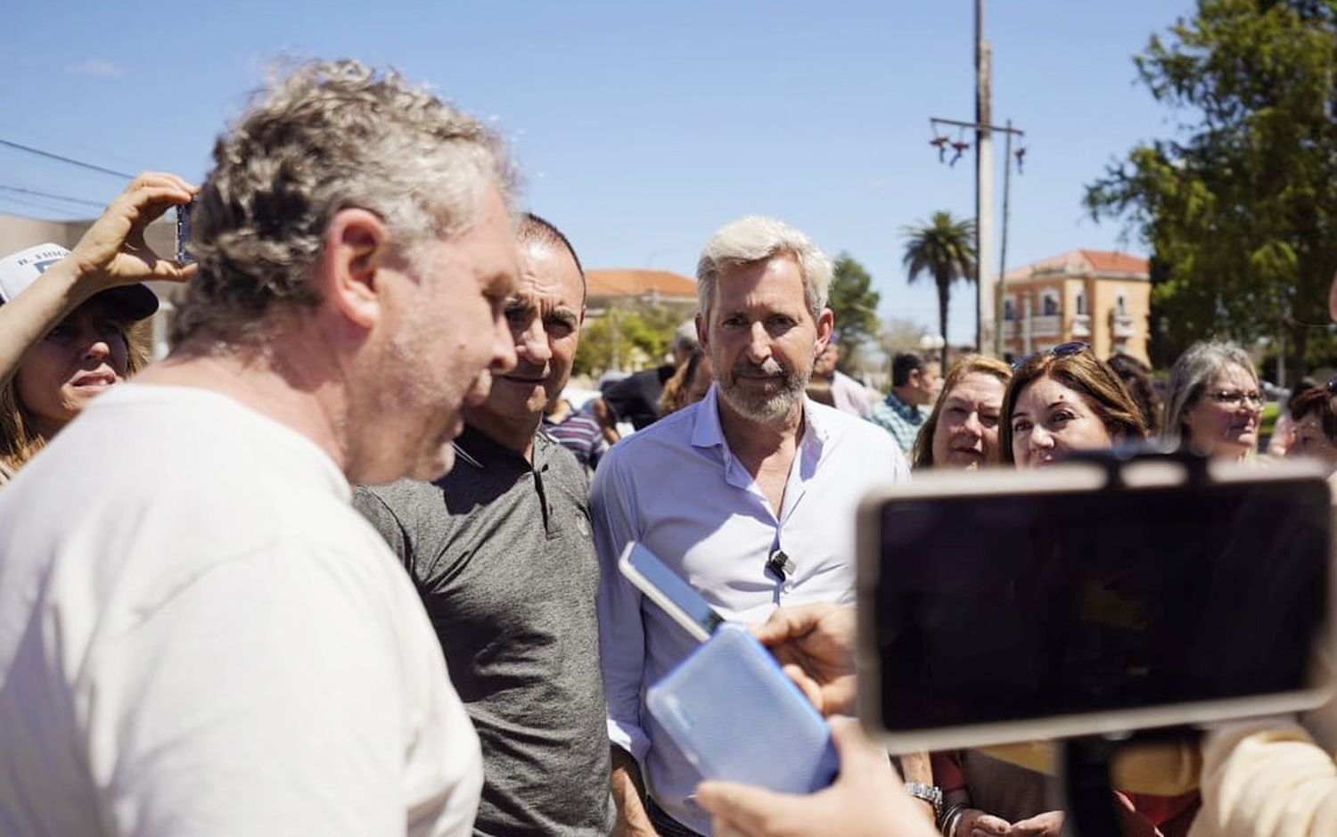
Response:
[[[1258,374],[1243,349],[1197,342],[1170,369],[1165,439],[1213,459],[1250,459],[1258,451],[1262,402]]]

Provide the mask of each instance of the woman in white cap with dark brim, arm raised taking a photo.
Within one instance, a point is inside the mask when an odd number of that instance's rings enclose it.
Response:
[[[176,175],[142,174],[74,251],[37,245],[0,259],[0,484],[88,398],[147,362],[130,330],[158,310],[142,282],[195,269],[159,258],[144,227],[194,194]]]

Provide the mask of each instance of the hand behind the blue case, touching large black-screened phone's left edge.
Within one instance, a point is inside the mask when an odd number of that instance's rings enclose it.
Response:
[[[854,714],[854,608],[830,602],[781,607],[751,631],[818,711]]]

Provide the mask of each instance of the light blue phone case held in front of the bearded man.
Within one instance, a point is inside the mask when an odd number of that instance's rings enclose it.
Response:
[[[826,721],[737,624],[651,686],[646,705],[702,778],[812,793],[840,769]]]

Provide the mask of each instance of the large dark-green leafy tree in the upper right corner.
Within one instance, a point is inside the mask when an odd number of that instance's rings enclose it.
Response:
[[[1087,187],[1095,218],[1150,247],[1151,350],[1280,337],[1292,364],[1332,350],[1337,269],[1337,3],[1199,0],[1134,59],[1177,115]]]

